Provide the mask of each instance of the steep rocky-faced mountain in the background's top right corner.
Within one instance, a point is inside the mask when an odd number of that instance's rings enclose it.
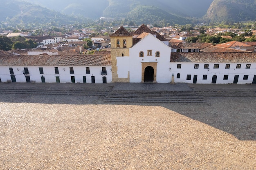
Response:
[[[256,20],[256,0],[213,0],[204,18],[210,22]]]

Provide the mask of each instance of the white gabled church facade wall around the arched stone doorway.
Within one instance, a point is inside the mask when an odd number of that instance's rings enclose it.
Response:
[[[147,50],[152,50],[152,56],[147,56]],[[139,52],[144,52],[144,57],[139,57]],[[160,57],[155,57],[159,51]],[[157,62],[157,79],[158,83],[171,82],[170,56],[171,48],[155,38],[154,35],[148,34],[140,42],[130,48],[130,56],[117,57],[117,73],[119,78],[127,78],[130,72],[130,82],[141,82],[142,62]]]

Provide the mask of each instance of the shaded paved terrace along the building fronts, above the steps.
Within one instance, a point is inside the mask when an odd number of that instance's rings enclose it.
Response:
[[[209,91],[240,90],[256,91],[256,84],[168,84],[168,83],[109,83],[109,84],[72,84],[72,83],[0,83],[0,88],[9,89],[58,89],[110,91]]]

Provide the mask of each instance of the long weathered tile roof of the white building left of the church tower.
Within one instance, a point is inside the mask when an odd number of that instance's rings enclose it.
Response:
[[[0,55],[2,66],[111,66],[111,55]]]

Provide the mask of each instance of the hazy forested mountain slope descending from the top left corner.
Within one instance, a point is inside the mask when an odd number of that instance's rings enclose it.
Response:
[[[85,20],[85,18],[75,18],[29,2],[2,0],[1,4],[0,21],[2,27],[15,27],[17,25],[20,25],[20,27],[28,27],[29,25],[36,27],[39,24],[47,23],[52,26],[60,26]]]

